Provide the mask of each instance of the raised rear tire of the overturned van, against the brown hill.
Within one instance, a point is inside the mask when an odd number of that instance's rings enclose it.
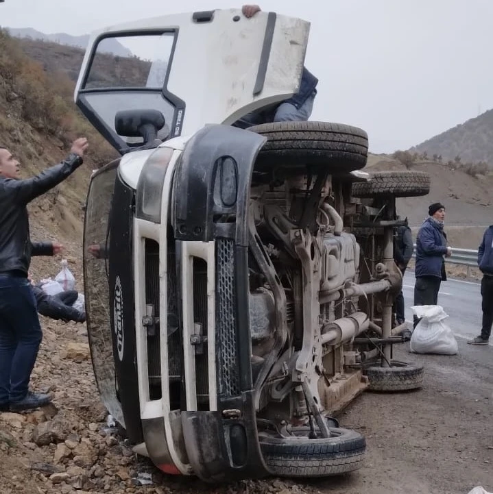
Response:
[[[424,171],[377,171],[368,182],[352,184],[354,197],[420,197],[430,192],[430,175]]]

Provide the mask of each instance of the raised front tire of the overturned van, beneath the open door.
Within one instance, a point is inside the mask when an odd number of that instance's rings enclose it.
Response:
[[[248,130],[267,137],[258,153],[259,171],[276,166],[322,165],[330,173],[348,173],[366,164],[368,134],[358,127],[328,122],[274,122]]]

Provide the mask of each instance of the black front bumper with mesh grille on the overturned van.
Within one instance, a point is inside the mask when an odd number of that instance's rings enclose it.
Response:
[[[173,180],[178,242],[216,244],[217,410],[182,411],[191,466],[206,481],[269,474],[252,398],[248,286],[250,182],[265,140],[226,125],[204,127],[184,148]]]

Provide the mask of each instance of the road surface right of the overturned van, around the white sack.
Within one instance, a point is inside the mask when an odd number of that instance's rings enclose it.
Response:
[[[412,319],[414,273],[404,280]],[[394,358],[424,367],[423,386],[411,393],[363,393],[341,415],[343,427],[367,441],[364,467],[352,475],[312,482],[310,494],[466,494],[474,486],[493,493],[493,349],[468,345],[479,334],[477,283],[444,282],[439,304],[449,314],[457,355],[418,355],[409,343]]]

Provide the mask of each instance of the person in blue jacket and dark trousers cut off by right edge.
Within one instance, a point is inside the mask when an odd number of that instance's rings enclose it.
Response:
[[[493,225],[483,235],[478,249],[478,266],[483,273],[481,280],[481,308],[483,309],[483,326],[481,334],[470,345],[488,345],[493,325]]]

